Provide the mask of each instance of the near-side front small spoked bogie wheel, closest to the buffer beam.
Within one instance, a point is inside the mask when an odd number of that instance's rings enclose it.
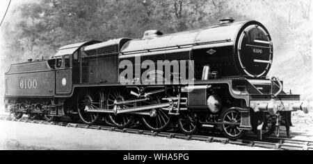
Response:
[[[221,114],[221,120],[224,123],[234,123],[236,125],[223,124],[223,134],[232,140],[241,138],[245,134],[245,130],[239,129],[241,116],[237,109],[226,109]]]

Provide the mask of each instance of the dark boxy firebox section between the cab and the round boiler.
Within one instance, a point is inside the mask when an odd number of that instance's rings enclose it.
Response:
[[[111,39],[81,48],[81,83],[118,82],[118,55],[129,38]]]

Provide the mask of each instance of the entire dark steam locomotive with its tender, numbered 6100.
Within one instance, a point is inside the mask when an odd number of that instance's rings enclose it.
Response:
[[[194,73],[192,85],[166,83],[164,78],[161,83],[141,84],[134,77],[121,77],[120,62],[136,65],[136,57],[193,61],[193,68],[188,68]],[[152,131],[174,123],[184,134],[210,128],[230,139],[248,130],[260,138],[275,130],[279,135],[284,125],[288,135],[291,111],[307,113],[307,107],[300,95],[285,93],[278,78],[266,77],[272,62],[273,44],[265,26],[232,18],[182,33],[149,30],[142,39],[70,44],[51,59],[10,66],[6,110],[15,118],[79,117],[86,125],[102,118],[118,128],[140,120]]]

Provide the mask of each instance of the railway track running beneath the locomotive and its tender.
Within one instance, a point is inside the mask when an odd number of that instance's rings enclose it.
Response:
[[[148,136],[159,136],[166,138],[178,138],[183,140],[200,140],[207,143],[223,143],[223,144],[234,144],[248,147],[263,147],[266,149],[279,149],[279,150],[313,150],[313,141],[310,140],[294,140],[290,138],[275,138],[267,137],[264,140],[257,140],[257,136],[247,134],[245,137],[239,140],[230,140],[218,134],[207,135],[191,135],[179,134],[175,132],[154,132],[144,129],[118,129],[106,125],[84,125],[80,123],[72,123],[67,120],[58,122],[47,122],[45,120],[29,120],[28,118],[15,119],[10,116],[0,116],[0,120],[16,121],[16,122],[29,122],[34,124],[43,125],[57,125],[61,127],[74,127],[83,129],[95,129],[95,130],[106,130],[106,131],[117,131],[121,133],[129,134],[140,134]]]

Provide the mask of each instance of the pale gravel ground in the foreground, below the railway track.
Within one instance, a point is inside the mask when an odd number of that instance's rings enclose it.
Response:
[[[0,120],[0,149],[257,150],[222,143]]]

